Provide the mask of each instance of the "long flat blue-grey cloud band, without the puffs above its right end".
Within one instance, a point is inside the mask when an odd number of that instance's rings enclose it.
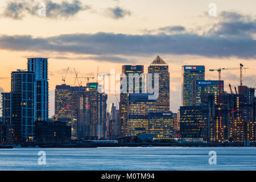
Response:
[[[256,57],[256,41],[197,34],[126,35],[99,32],[68,34],[48,38],[26,35],[0,36],[0,48],[19,51],[53,51],[89,55],[145,56],[161,54],[206,57]],[[96,59],[100,60],[100,58]]]

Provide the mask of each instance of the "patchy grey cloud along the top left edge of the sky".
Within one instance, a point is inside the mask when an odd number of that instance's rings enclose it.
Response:
[[[51,0],[45,1],[46,4],[46,18],[70,18],[75,16],[80,11],[88,10],[89,5],[82,5],[80,1],[73,0],[72,2],[61,1],[55,3]],[[23,19],[27,14],[38,16],[39,1],[9,1],[2,16],[12,19]]]

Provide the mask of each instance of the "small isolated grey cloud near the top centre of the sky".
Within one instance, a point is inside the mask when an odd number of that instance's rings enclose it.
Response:
[[[115,7],[110,7],[104,11],[104,14],[107,15],[109,18],[113,19],[121,19],[125,18],[125,16],[130,16],[131,11],[123,9],[122,7],[115,6]]]

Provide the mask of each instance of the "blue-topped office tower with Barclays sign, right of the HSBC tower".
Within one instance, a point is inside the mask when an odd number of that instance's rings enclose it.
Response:
[[[224,91],[224,81],[222,80],[194,80],[192,86],[193,105],[199,106],[202,104],[201,96],[203,93],[213,93],[217,96],[219,90]]]

